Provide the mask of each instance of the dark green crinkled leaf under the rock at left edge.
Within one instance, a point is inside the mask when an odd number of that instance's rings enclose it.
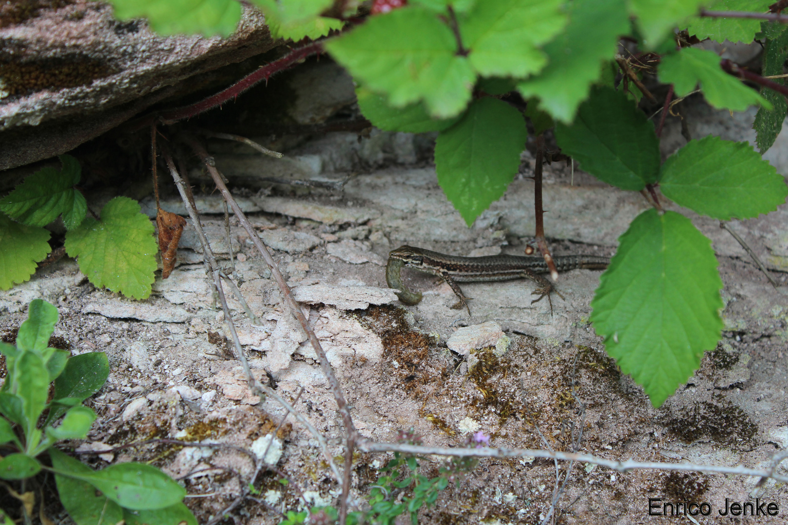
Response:
[[[62,213],[67,230],[79,226],[87,212],[85,198],[74,189],[82,168],[70,155],[61,155],[60,161],[61,170],[42,168],[24,179],[0,200],[0,211],[28,226],[46,226]]]

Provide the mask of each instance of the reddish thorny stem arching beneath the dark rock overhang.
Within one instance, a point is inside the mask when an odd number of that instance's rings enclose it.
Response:
[[[290,54],[281,57],[279,60],[275,60],[269,65],[259,68],[250,75],[244,76],[243,79],[240,79],[238,82],[232,84],[232,86],[228,87],[227,89],[219,91],[217,94],[213,94],[208,98],[203,98],[203,100],[195,102],[194,104],[159,113],[159,118],[162,120],[163,124],[174,124],[178,120],[188,119],[191,116],[199,115],[200,113],[217,107],[217,105],[222,105],[225,102],[228,102],[232,98],[236,98],[238,95],[242,94],[243,91],[247,91],[247,89],[254,86],[261,80],[268,80],[273,74],[291,68],[293,65],[296,65],[304,58],[310,57],[313,54],[322,53],[322,51],[322,41],[299,47],[299,49],[292,50]]]

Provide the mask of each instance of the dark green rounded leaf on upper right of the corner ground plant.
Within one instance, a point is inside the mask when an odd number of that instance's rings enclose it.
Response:
[[[95,394],[110,375],[110,361],[106,353],[89,352],[69,357],[65,368],[54,381],[54,400],[77,399],[80,403]],[[55,401],[53,401],[54,403]],[[53,406],[46,423],[49,424],[65,413],[64,406]]]

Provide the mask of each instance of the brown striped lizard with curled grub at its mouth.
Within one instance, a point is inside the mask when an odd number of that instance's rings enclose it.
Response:
[[[577,268],[588,268],[591,270],[601,270],[608,268],[610,259],[595,255],[559,255],[553,257],[556,268],[560,272],[574,270]],[[533,290],[533,295],[539,298],[531,301],[531,304],[541,301],[545,295],[550,301],[550,311],[552,312],[552,300],[550,293],[556,292],[560,298],[563,295],[553,287],[552,283],[538,275],[548,272],[547,263],[542,257],[527,257],[522,255],[487,255],[485,257],[458,257],[455,255],[445,255],[423,248],[414,246],[400,246],[396,250],[388,253],[388,264],[386,264],[386,283],[394,290],[400,290],[396,294],[400,301],[406,305],[416,305],[422,300],[421,292],[408,290],[402,282],[400,270],[403,267],[414,268],[419,272],[425,272],[442,277],[448,286],[452,287],[459,301],[452,308],[459,309],[463,306],[468,310],[470,307],[467,301],[471,298],[465,297],[463,290],[458,286],[459,283],[470,282],[492,282],[506,281],[509,279],[531,279],[537,283],[537,289]]]

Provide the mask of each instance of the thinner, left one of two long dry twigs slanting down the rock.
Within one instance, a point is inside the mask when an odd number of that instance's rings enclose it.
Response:
[[[199,216],[197,216],[197,209],[194,205],[194,197],[191,195],[191,188],[188,187],[187,184],[184,184],[184,180],[181,179],[180,176],[178,175],[177,169],[175,168],[175,164],[173,163],[173,159],[172,157],[169,156],[169,152],[167,150],[164,151],[164,157],[165,157],[165,161],[167,162],[167,167],[169,168],[169,172],[172,174],[173,180],[175,181],[178,191],[180,192],[180,197],[183,199],[186,209],[188,209],[189,216],[191,217],[191,222],[192,224],[195,225],[195,231],[197,231],[197,235],[200,240],[200,243],[203,244],[203,253],[205,254],[205,258],[207,260],[208,268],[210,271],[211,270],[210,264],[214,264],[214,268],[217,267],[215,266],[217,264],[216,257],[214,257],[213,251],[210,250],[208,239],[205,236],[203,227],[199,223]],[[214,280],[214,284],[215,283],[216,281]],[[232,325],[232,319],[230,320],[229,324]],[[242,348],[240,348],[240,344],[239,346],[236,346],[236,350],[241,352]],[[243,352],[241,352],[241,355],[243,355]],[[246,361],[243,360],[242,363],[246,363]],[[295,407],[290,405],[290,403],[288,403],[288,401],[286,401],[284,397],[281,397],[281,395],[277,394],[272,388],[263,385],[257,379],[255,379],[255,376],[252,375],[251,370],[248,368],[248,366],[244,367],[243,372],[247,375],[247,379],[253,383],[253,386],[251,388],[252,392],[258,394],[258,392],[262,391],[266,395],[273,397],[282,406],[284,406],[284,408],[287,409],[288,412],[292,412],[292,414],[296,416],[296,420],[298,420],[299,423],[303,424],[304,427],[307,427],[307,429],[314,436],[314,438],[318,440],[318,446],[320,446],[320,449],[323,453],[323,456],[325,457],[325,460],[328,461],[331,471],[333,472],[334,478],[336,479],[336,482],[337,483],[340,482],[340,478],[341,478],[340,471],[338,468],[336,468],[336,464],[334,463],[333,457],[329,452],[328,443],[325,442],[325,438],[323,437],[322,434],[320,434],[320,432],[318,432],[318,429],[316,429],[312,425],[312,423],[310,423],[309,420],[307,420],[307,418],[302,416],[301,413],[295,409]]]

